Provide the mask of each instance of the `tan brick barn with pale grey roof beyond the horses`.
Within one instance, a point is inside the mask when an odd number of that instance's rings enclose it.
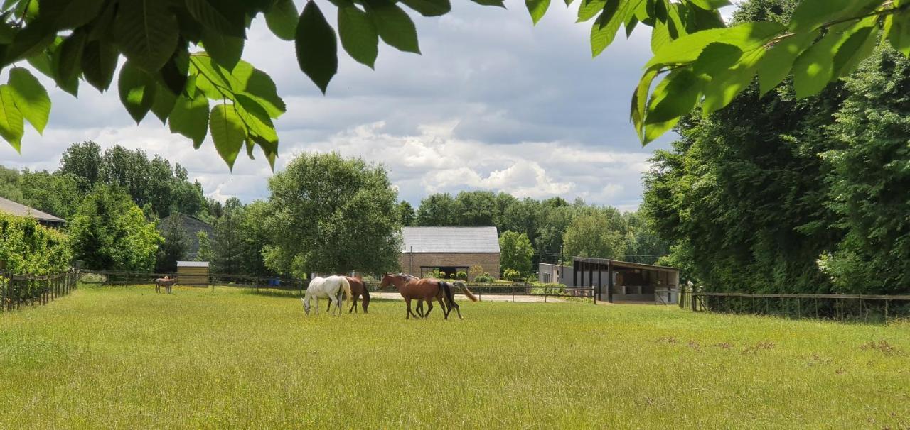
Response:
[[[500,238],[496,227],[404,227],[399,255],[401,270],[423,276],[439,269],[447,274],[480,265],[483,272],[500,276]]]

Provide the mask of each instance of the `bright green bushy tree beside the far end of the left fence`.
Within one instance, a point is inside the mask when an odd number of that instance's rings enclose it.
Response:
[[[86,195],[69,235],[76,260],[93,269],[149,271],[162,242],[129,195],[107,185]]]

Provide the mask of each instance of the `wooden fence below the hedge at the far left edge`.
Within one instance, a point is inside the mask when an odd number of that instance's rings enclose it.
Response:
[[[75,269],[45,276],[0,272],[0,312],[9,312],[24,305],[47,305],[75,290],[78,281],[79,272]]]

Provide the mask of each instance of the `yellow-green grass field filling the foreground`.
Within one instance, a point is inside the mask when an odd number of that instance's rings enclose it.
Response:
[[[0,427],[910,426],[907,324],[461,309],[304,317],[298,298],[232,288],[84,287],[0,315]]]

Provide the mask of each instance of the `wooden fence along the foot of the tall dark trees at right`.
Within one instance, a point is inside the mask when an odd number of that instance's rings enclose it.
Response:
[[[779,315],[838,321],[910,318],[910,295],[794,295],[709,293],[683,289],[680,307],[695,312]]]

